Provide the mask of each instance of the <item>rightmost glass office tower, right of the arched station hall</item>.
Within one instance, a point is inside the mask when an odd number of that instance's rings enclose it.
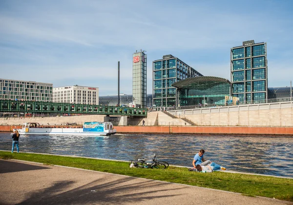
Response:
[[[246,104],[267,102],[267,44],[245,41],[231,48],[230,58],[232,95]]]

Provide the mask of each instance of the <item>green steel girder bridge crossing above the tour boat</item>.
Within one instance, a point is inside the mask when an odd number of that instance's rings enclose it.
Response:
[[[0,112],[147,116],[145,108],[20,100],[0,100]]]

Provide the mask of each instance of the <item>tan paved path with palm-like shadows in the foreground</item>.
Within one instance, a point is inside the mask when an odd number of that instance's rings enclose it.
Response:
[[[0,204],[293,205],[264,197],[19,160],[0,160]]]

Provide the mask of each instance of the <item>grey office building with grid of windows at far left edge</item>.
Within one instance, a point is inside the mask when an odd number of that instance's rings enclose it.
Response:
[[[52,102],[53,84],[35,81],[0,79],[0,99]]]

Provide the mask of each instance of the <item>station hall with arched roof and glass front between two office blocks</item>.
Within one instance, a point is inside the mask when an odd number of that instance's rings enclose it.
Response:
[[[225,96],[230,94],[230,81],[219,77],[188,78],[174,83],[173,86],[179,91],[180,106],[223,106]]]

